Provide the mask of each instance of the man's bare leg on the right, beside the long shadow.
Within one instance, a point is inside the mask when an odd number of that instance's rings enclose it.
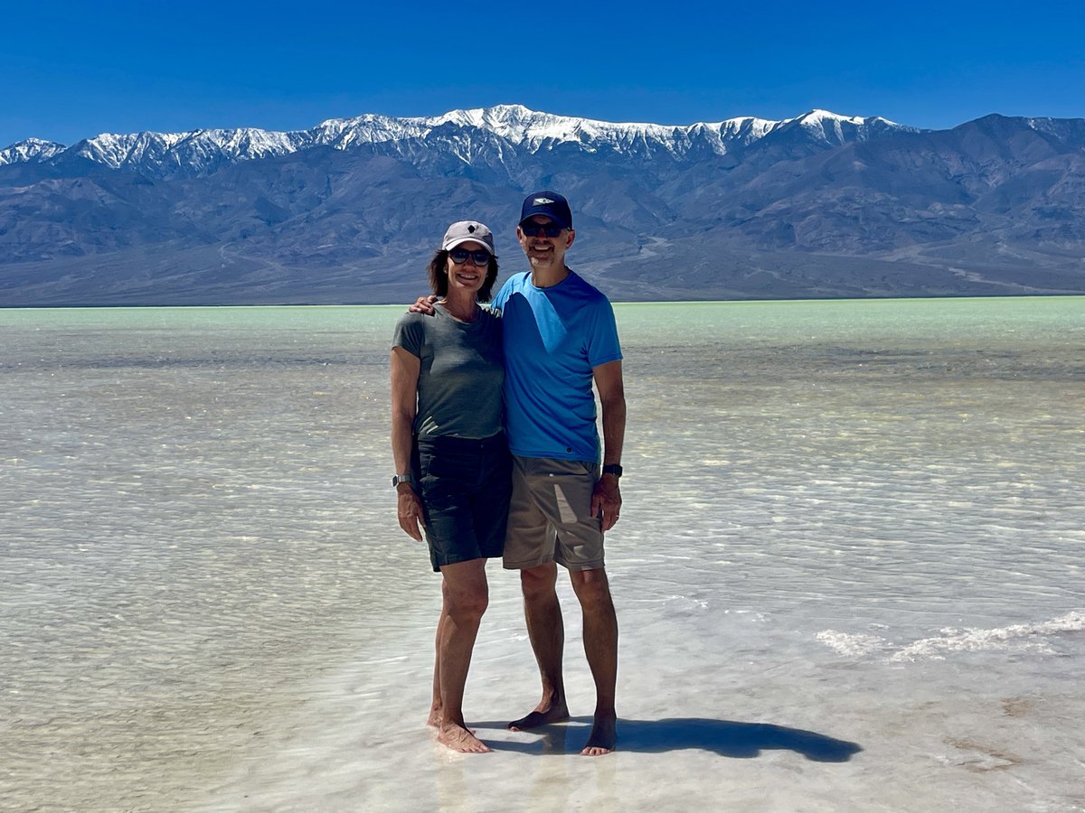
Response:
[[[584,654],[596,682],[596,715],[591,735],[580,753],[598,757],[614,750],[617,715],[614,695],[617,684],[617,616],[611,598],[607,571],[571,571],[573,591],[584,615]]]

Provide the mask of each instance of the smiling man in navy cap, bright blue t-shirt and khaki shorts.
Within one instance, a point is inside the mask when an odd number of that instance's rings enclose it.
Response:
[[[569,719],[562,678],[564,624],[556,591],[569,570],[580,604],[584,649],[596,684],[596,711],[584,749],[609,753],[616,739],[617,618],[603,565],[603,532],[622,506],[625,392],[622,350],[607,297],[565,264],[576,232],[556,192],[528,195],[516,238],[531,270],[502,286],[506,429],[513,454],[505,567],[520,570],[527,633],[542,698],[512,731]],[[592,384],[602,406],[603,448]]]

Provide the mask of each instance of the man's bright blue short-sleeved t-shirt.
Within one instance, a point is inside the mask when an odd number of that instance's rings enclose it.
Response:
[[[591,369],[617,361],[614,310],[576,273],[538,288],[511,278],[494,307],[505,343],[505,424],[521,457],[599,461]]]

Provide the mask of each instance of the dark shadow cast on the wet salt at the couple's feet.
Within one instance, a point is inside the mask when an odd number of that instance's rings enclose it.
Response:
[[[527,735],[510,734],[505,723],[472,723],[472,727],[478,730],[480,736],[495,751],[576,753],[591,731],[591,718],[572,718],[569,723],[548,725]],[[489,728],[502,732],[502,736],[494,738],[483,731]],[[503,735],[532,736],[532,739],[505,739]],[[618,718],[618,751],[664,753],[687,749],[714,751],[732,759],[753,759],[760,757],[762,751],[794,751],[814,762],[847,762],[863,747],[825,734],[768,723],[706,718]]]

